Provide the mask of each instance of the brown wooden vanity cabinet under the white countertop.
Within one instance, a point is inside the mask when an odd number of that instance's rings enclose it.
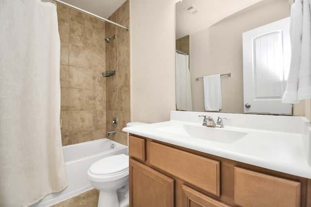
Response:
[[[311,180],[130,134],[130,207],[311,207]]]

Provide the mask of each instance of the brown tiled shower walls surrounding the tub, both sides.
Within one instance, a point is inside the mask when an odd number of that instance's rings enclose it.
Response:
[[[119,118],[121,132],[130,121],[129,32],[62,4],[57,5],[57,14],[63,145],[106,137],[112,116]],[[128,26],[128,1],[111,18]],[[110,33],[116,39],[108,45],[104,38]],[[116,70],[117,75],[104,78],[106,70]],[[127,143],[124,133],[109,138]]]

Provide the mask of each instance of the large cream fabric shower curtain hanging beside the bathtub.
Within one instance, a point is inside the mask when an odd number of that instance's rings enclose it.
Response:
[[[0,0],[0,206],[67,186],[60,132],[56,5]]]

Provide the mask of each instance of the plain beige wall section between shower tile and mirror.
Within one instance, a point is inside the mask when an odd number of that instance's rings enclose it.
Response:
[[[175,110],[175,2],[130,1],[132,121],[166,121]]]

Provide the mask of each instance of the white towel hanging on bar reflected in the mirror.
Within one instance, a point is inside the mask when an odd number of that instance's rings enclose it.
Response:
[[[204,106],[206,111],[219,111],[222,109],[222,91],[220,74],[203,77]]]

